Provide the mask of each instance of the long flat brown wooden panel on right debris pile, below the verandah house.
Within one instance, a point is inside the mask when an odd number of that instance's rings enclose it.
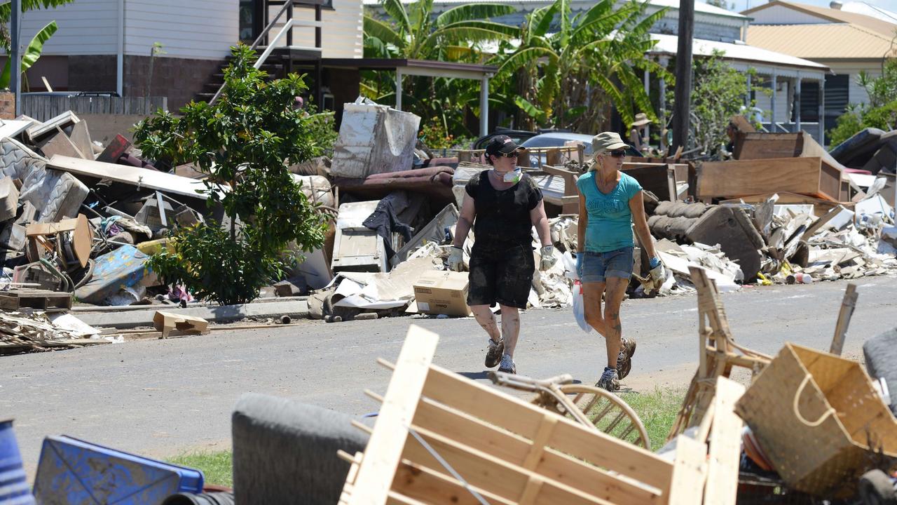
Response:
[[[734,198],[770,191],[790,191],[807,195],[823,194],[822,160],[776,158],[728,162],[704,162],[698,175],[698,196]],[[825,194],[832,198],[831,194]]]

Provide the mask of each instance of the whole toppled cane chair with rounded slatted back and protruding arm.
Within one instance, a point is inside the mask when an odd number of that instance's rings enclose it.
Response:
[[[536,393],[534,405],[651,450],[648,431],[639,414],[616,394],[593,385],[573,384],[570,374],[544,380],[492,370],[486,375],[494,385]]]

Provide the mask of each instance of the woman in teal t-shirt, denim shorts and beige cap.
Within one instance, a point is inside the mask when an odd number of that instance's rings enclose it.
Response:
[[[632,275],[632,226],[649,254],[652,279],[665,279],[666,272],[654,251],[645,219],[641,186],[620,172],[626,144],[620,135],[605,131],[592,138],[595,164],[579,177],[579,226],[576,270],[582,280],[586,321],[605,337],[607,366],[597,386],[620,389],[620,379],[629,375],[635,339],[623,339],[620,304]],[[601,311],[601,297],[605,310]]]

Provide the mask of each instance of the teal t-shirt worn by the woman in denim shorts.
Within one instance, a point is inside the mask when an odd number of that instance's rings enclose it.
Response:
[[[641,190],[639,182],[630,175],[620,173],[620,182],[605,195],[595,184],[595,172],[588,172],[579,176],[576,186],[586,197],[588,211],[585,250],[606,253],[632,247],[632,212],[629,200]]]

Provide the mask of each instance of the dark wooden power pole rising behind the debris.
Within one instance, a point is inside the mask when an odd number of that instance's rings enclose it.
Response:
[[[675,104],[672,152],[688,148],[688,127],[692,102],[692,37],[694,0],[679,0],[679,44],[675,54]]]

